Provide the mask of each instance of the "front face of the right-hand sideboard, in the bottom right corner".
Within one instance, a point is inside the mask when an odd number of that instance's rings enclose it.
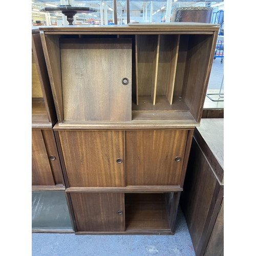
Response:
[[[224,198],[204,256],[224,256]]]

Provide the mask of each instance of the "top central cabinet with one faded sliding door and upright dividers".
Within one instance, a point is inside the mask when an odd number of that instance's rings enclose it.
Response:
[[[199,125],[219,27],[40,27],[59,127]]]

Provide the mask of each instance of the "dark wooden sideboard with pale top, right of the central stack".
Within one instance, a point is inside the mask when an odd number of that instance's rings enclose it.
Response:
[[[181,206],[197,256],[224,255],[224,119],[196,127]]]

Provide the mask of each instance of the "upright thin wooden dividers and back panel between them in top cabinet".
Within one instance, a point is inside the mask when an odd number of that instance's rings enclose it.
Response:
[[[137,105],[140,96],[151,96],[153,105],[157,96],[166,96],[173,103],[179,41],[180,35],[136,35]]]

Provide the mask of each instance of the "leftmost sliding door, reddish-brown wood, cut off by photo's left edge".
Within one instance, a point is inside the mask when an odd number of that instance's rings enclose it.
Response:
[[[32,130],[32,185],[55,185],[41,130]]]

